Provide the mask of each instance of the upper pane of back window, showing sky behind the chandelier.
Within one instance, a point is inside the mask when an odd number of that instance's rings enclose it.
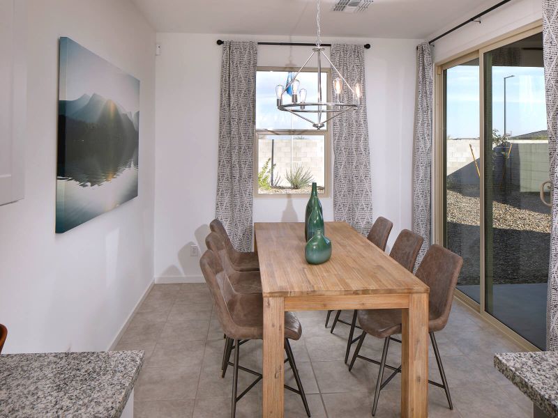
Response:
[[[296,72],[293,73],[293,75]],[[287,84],[288,71],[258,71],[256,75],[256,129],[296,129],[315,130],[312,124],[294,116],[287,111],[277,109],[275,88],[278,84]],[[296,77],[300,88],[306,88],[306,102],[317,102],[317,72],[301,72]],[[328,91],[327,72],[322,72],[322,101],[326,101]],[[283,102],[290,103],[291,96],[283,95]],[[317,121],[317,114],[308,113],[303,116]],[[324,118],[322,116],[322,118]],[[323,119],[322,119],[323,120]],[[326,127],[324,127],[326,129]]]

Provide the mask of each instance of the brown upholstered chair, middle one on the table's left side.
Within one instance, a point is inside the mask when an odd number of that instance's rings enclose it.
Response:
[[[239,293],[262,293],[262,280],[259,277],[259,271],[238,272],[234,270],[234,265],[225,249],[225,242],[223,242],[221,235],[216,232],[209,233],[205,238],[205,244],[207,248],[219,256],[235,291]]]

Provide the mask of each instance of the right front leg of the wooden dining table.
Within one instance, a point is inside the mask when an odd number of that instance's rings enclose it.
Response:
[[[411,293],[402,314],[401,417],[428,417],[428,293]]]

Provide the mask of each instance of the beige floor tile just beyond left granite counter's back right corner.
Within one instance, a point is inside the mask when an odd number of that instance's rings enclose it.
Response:
[[[204,359],[205,341],[159,341],[148,367],[197,366]]]

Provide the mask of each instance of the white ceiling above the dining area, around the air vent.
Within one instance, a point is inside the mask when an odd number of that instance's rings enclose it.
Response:
[[[315,0],[132,0],[158,32],[315,36]],[[322,37],[423,39],[497,0],[374,0],[334,13],[322,0]]]

